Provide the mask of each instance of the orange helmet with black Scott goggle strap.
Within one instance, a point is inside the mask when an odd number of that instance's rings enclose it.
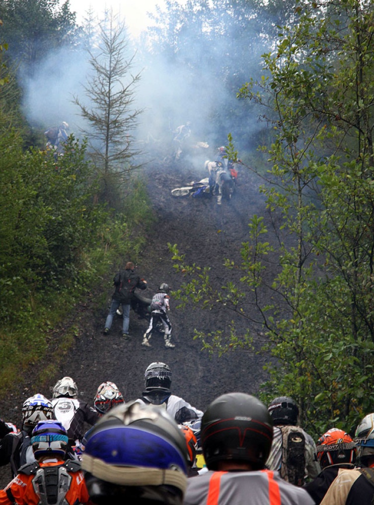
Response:
[[[352,438],[338,428],[331,428],[317,442],[317,459],[321,468],[353,464],[356,453],[357,447]]]

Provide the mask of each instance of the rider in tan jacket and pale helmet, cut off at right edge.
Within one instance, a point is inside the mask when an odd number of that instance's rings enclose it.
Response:
[[[321,505],[371,505],[374,500],[374,413],[356,428],[357,463],[354,469],[340,469]]]

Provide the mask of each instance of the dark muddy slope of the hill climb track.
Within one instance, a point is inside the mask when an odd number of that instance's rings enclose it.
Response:
[[[241,243],[248,240],[248,222],[254,214],[265,213],[264,199],[259,195],[260,180],[245,168],[239,171],[236,192],[231,201],[217,206],[214,198],[175,198],[170,190],[184,186],[191,180],[206,177],[204,163],[181,160],[178,164],[152,163],[146,168],[153,212],[157,218],[149,233],[147,247],[138,264],[139,274],[147,279],[151,295],[161,282],[178,289],[183,276],[173,269],[168,242],[178,244],[186,262],[211,267],[211,278],[221,285],[235,272],[223,267],[224,258],[240,262]],[[197,168],[196,168],[197,167]],[[123,258],[123,262],[130,260]],[[113,272],[114,275],[114,272]],[[204,410],[216,396],[229,391],[256,394],[265,380],[263,359],[250,352],[232,351],[218,358],[201,350],[201,342],[194,340],[194,328],[210,331],[225,329],[232,314],[225,311],[209,312],[199,309],[176,310],[171,300],[170,319],[173,325],[174,349],[164,347],[162,336],[152,337],[152,347],[144,349],[142,335],[148,323],[131,312],[131,338],[121,336],[121,319],[114,320],[108,336],[102,334],[112,294],[112,276],[103,283],[106,300],[98,303],[95,294],[78,308],[72,320],[80,328],[79,336],[64,360],[56,367],[48,384],[35,390],[35,377],[45,366],[36,365],[29,371],[22,389],[5,402],[1,416],[20,423],[20,410],[25,398],[36,392],[50,396],[50,387],[56,380],[69,375],[74,378],[80,396],[92,403],[97,386],[106,380],[117,384],[126,400],[137,398],[144,387],[144,371],[154,361],[167,363],[172,371],[172,392]],[[245,331],[245,321],[239,330]],[[4,481],[9,470],[2,469]],[[6,475],[6,477],[5,477]]]

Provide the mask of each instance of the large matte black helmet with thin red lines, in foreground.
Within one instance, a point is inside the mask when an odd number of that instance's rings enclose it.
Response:
[[[201,442],[209,470],[220,461],[251,463],[263,469],[273,440],[273,423],[266,406],[255,396],[228,393],[216,398],[201,423]]]

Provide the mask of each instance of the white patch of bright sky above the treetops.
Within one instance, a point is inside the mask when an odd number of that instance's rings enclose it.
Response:
[[[105,8],[113,8],[124,18],[128,29],[133,37],[137,37],[149,24],[147,12],[153,12],[156,5],[160,7],[164,0],[70,0],[71,11],[77,13],[77,22],[80,23],[86,17],[90,7],[101,15]]]

